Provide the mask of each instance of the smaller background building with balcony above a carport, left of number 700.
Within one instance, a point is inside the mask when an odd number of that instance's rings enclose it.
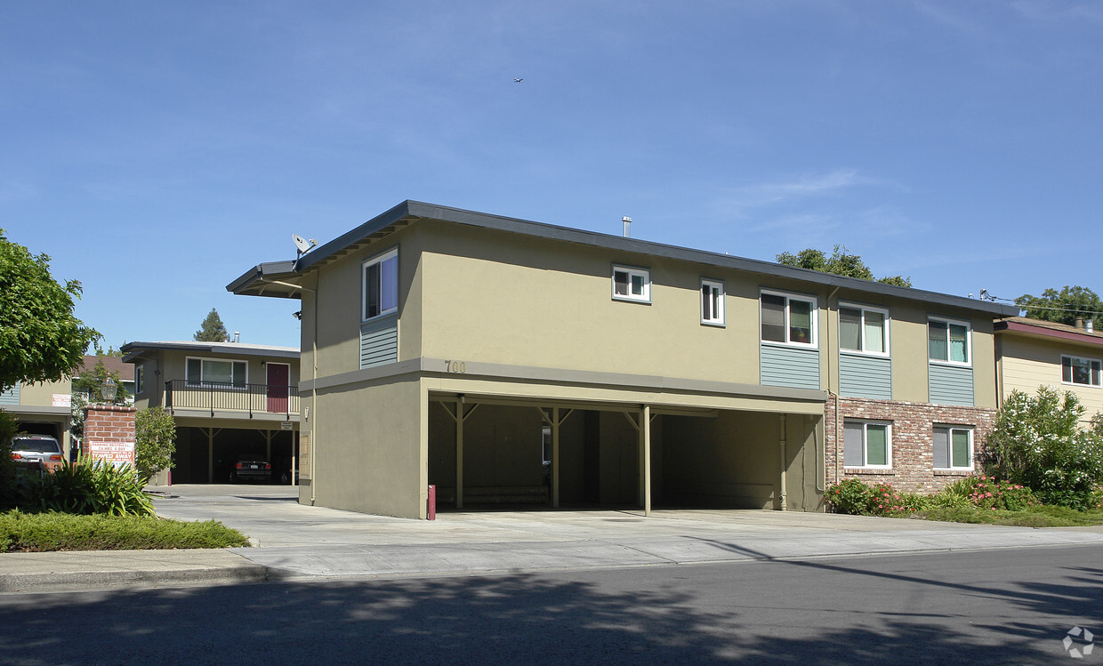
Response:
[[[233,342],[131,342],[135,406],[176,423],[173,483],[226,483],[242,456],[265,455],[278,481],[299,430],[299,350]],[[165,473],[151,481],[169,481]]]

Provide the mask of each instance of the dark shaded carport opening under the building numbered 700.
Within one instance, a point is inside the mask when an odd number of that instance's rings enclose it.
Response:
[[[457,413],[454,401],[430,404],[428,475],[437,487],[439,512],[457,508]],[[462,413],[462,511],[556,508],[552,409],[469,401]],[[640,413],[578,408],[559,413],[558,508],[639,508]],[[790,420],[801,427],[799,437],[788,438],[792,475],[792,463],[808,466],[803,449],[814,448],[815,440],[804,432],[811,422],[805,417]],[[655,415],[652,506],[778,508],[781,423],[779,415],[765,412]],[[803,491],[789,494],[803,504]]]

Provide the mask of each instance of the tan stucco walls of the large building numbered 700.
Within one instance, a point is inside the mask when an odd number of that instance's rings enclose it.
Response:
[[[397,362],[362,369],[362,266],[396,248]],[[650,271],[650,302],[613,299],[613,266]],[[430,483],[441,502],[546,483],[554,505],[822,511],[839,301],[889,311],[893,400],[929,400],[928,318],[939,316],[971,324],[973,402],[997,402],[992,315],[930,304],[923,292],[889,297],[436,219],[381,233],[293,279],[311,443],[303,503],[425,517]],[[725,286],[722,326],[700,322],[702,279]],[[762,385],[763,289],[815,298],[816,386]],[[540,430],[553,410],[567,416],[546,481]],[[587,474],[599,479],[592,496]]]

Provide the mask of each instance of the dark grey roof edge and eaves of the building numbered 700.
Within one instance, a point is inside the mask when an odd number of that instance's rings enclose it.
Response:
[[[405,201],[378,215],[358,227],[319,246],[296,261],[274,261],[260,264],[242,277],[226,286],[228,291],[248,296],[269,296],[276,298],[300,298],[303,287],[301,280],[304,272],[317,269],[325,264],[340,259],[360,247],[374,243],[395,230],[414,224],[419,219],[437,219],[454,224],[464,224],[489,229],[497,229],[513,234],[536,236],[549,240],[563,240],[581,245],[602,247],[625,253],[635,253],[684,261],[694,261],[708,266],[732,268],[759,275],[802,280],[829,288],[839,287],[853,291],[881,294],[890,298],[922,301],[950,308],[961,308],[975,312],[984,312],[993,316],[1014,316],[1019,313],[1016,305],[1005,305],[990,301],[950,296],[935,291],[925,291],[910,287],[897,287],[882,282],[871,282],[857,278],[846,278],[831,273],[783,266],[760,259],[732,257],[719,253],[689,249],[661,243],[651,243],[635,238],[624,238],[610,234],[598,234],[583,229],[555,226],[515,217],[490,215],[462,208],[452,208],[437,204],[416,201]],[[308,288],[309,290],[309,288]]]

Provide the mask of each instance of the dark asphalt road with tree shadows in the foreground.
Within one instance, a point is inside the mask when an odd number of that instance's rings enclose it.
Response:
[[[11,593],[0,626],[19,665],[1103,664],[1062,645],[1103,642],[1103,547]]]

